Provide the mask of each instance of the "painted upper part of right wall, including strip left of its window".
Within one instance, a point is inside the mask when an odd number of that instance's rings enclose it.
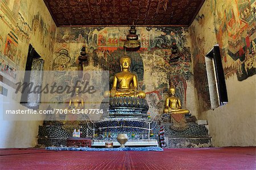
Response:
[[[219,44],[225,78],[242,81],[256,73],[255,7],[255,1],[206,1],[189,28],[199,113],[210,109],[205,67],[210,45]]]

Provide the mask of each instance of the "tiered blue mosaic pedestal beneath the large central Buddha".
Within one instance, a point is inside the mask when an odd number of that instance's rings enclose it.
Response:
[[[117,147],[118,134],[127,134],[129,139],[125,146],[158,146],[156,121],[147,118],[146,99],[129,96],[109,97],[102,101],[102,109],[104,105],[109,106],[109,109],[101,121],[95,122],[97,135],[92,146],[102,147],[106,141],[111,140],[114,147]]]

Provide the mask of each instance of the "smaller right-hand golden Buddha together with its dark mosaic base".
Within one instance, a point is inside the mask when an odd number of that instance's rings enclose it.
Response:
[[[170,85],[170,96],[166,98],[162,123],[157,127],[162,147],[187,148],[210,147],[208,125],[196,123],[196,117],[188,109],[182,109],[179,97],[175,96],[175,86]]]

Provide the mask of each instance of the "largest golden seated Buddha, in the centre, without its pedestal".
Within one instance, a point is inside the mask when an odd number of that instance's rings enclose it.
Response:
[[[128,56],[120,59],[121,72],[114,75],[112,89],[104,93],[104,97],[139,97],[145,98],[146,94],[138,91],[137,76],[129,71],[131,59]]]

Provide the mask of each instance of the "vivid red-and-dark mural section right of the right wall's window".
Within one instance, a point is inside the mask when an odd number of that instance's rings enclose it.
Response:
[[[245,80],[256,74],[256,2],[229,0],[214,5],[216,38],[225,76],[236,73],[238,81]]]

